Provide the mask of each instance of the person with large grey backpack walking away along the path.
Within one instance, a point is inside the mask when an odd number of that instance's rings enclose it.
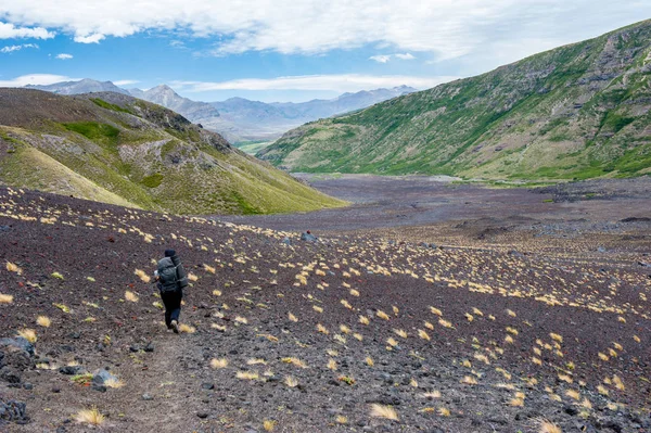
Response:
[[[165,304],[165,324],[175,333],[179,333],[179,315],[183,289],[188,286],[188,276],[179,256],[174,250],[165,250],[165,257],[158,260],[158,269],[154,271],[161,300]]]

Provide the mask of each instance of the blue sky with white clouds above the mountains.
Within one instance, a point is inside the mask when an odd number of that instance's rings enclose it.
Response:
[[[651,1],[13,0],[0,86],[158,84],[203,101],[424,89],[651,17]]]

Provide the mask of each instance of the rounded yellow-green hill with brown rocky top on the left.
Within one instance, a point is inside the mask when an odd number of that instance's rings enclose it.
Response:
[[[167,109],[108,92],[0,89],[0,181],[176,214],[342,204]]]

